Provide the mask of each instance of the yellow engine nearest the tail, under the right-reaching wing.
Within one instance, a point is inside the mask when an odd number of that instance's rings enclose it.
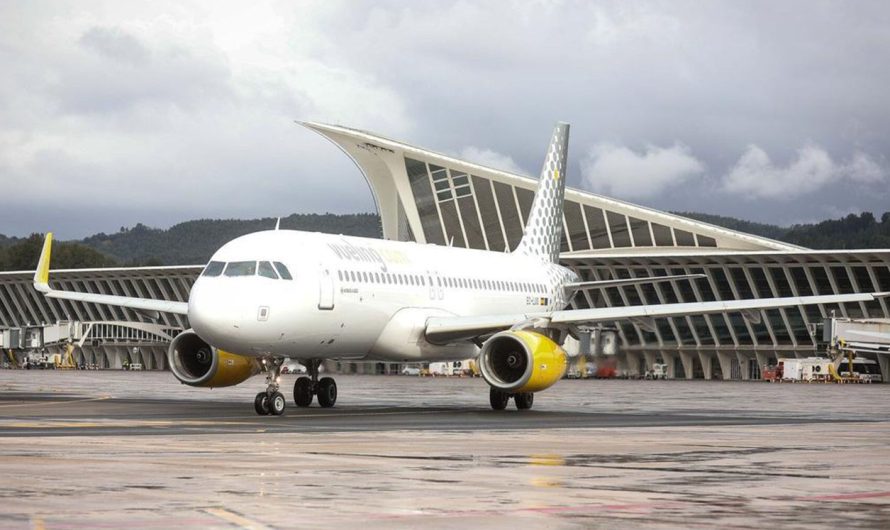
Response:
[[[479,369],[485,381],[504,392],[539,392],[566,372],[566,352],[533,331],[502,331],[482,345]]]

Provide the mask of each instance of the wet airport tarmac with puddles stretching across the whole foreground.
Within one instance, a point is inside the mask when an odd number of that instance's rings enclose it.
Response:
[[[0,529],[890,526],[890,385],[562,381],[498,413],[479,379],[337,381],[260,417],[262,378],[0,371]]]

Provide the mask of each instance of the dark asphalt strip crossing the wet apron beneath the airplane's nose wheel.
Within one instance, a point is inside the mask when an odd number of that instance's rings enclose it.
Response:
[[[252,406],[252,405],[251,405]],[[0,393],[0,436],[338,433],[353,431],[493,431],[811,423],[808,418],[738,415],[607,414],[456,407],[297,408],[258,416],[245,404],[157,399]],[[249,412],[248,412],[249,411]]]

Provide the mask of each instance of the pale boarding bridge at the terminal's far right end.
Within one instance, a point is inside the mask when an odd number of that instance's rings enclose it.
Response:
[[[881,377],[890,382],[890,319],[825,319],[823,340],[830,351],[853,351],[878,361]]]

